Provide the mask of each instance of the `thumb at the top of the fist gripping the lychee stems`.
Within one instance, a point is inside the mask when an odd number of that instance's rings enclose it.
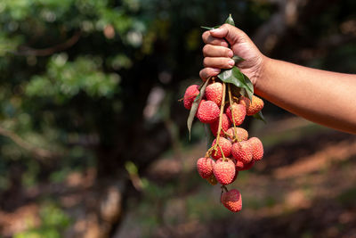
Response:
[[[218,29],[211,29],[210,33],[213,37],[225,38],[230,45],[237,44],[246,40],[246,33],[230,24],[223,24]]]

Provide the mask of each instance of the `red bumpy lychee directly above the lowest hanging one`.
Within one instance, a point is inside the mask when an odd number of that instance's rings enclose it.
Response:
[[[217,182],[222,185],[229,185],[232,183],[236,173],[235,164],[228,158],[221,158],[216,161],[213,172]]]

